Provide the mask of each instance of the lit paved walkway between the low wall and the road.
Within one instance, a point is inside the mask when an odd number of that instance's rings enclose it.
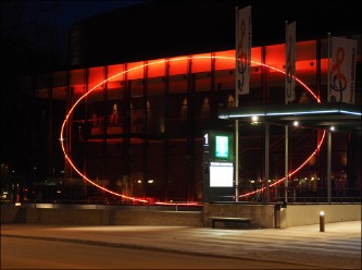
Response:
[[[2,224],[3,236],[361,269],[361,221],[327,223],[325,232],[319,224],[284,230]]]

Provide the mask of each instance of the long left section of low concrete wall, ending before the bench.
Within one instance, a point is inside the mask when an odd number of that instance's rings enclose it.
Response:
[[[1,223],[202,226],[202,212],[1,207]]]

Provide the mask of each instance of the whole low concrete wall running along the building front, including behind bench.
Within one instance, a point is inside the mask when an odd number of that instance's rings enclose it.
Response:
[[[205,204],[203,211],[154,211],[76,208],[1,207],[1,223],[79,225],[209,226],[210,217],[252,218],[252,228],[288,228],[325,222],[361,220],[361,205],[288,205],[279,212],[274,205]]]

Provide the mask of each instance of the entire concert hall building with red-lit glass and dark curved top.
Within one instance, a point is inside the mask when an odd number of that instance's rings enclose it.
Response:
[[[269,201],[284,199],[286,125],[288,202],[328,201],[328,142],[332,201],[361,201],[360,25],[345,20],[344,28],[335,27],[335,17],[324,15],[310,22],[299,13],[305,11],[300,4],[271,15],[271,4],[251,3],[250,91],[239,96],[239,108],[285,105],[285,21],[290,20],[297,23],[298,82],[288,108],[304,108],[312,119],[299,118],[297,126],[292,118],[270,119],[267,144],[266,119],[239,119],[239,201],[262,202],[265,183]],[[202,202],[204,134],[235,132],[235,119],[223,113],[230,116],[235,109],[237,5],[246,4],[150,2],[73,25],[68,69],[21,81],[36,106],[37,199]],[[316,4],[311,16],[320,12]],[[328,23],[332,36],[358,40],[354,103],[332,105],[357,113],[352,116],[326,112],[313,118],[313,108],[328,103]],[[328,133],[330,126],[335,131]]]

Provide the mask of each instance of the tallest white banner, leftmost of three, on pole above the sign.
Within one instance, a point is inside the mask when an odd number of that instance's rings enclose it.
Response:
[[[251,63],[251,5],[236,14],[236,90],[249,94]]]

